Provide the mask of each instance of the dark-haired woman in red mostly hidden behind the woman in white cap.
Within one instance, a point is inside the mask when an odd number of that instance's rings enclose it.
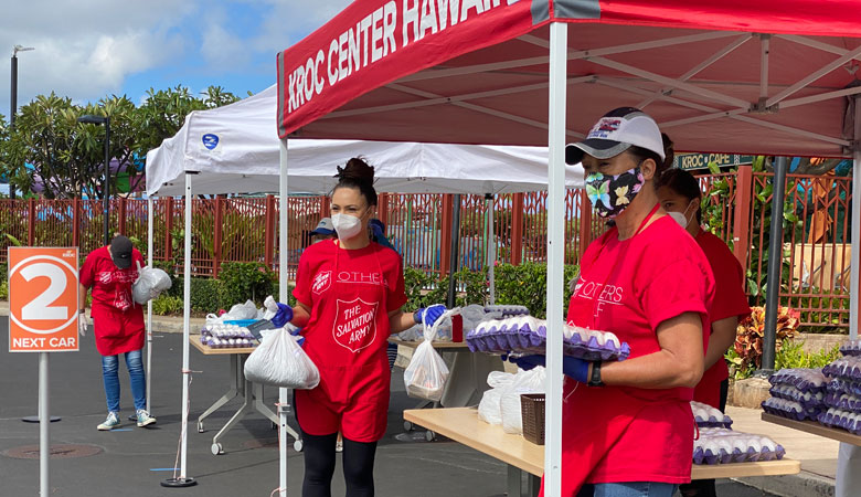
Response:
[[[738,320],[751,314],[744,293],[744,269],[723,240],[700,228],[702,192],[697,178],[681,169],[669,169],[656,184],[663,210],[693,236],[714,273],[715,292],[709,308],[711,335],[705,351],[705,372],[693,390],[693,400],[723,411],[730,387],[730,370],[723,356],[735,342]],[[685,497],[716,495],[713,479],[683,485],[681,493]]]

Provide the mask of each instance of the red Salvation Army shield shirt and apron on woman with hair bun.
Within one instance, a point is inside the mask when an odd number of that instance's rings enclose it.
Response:
[[[316,243],[299,260],[293,295],[311,309],[304,348],[320,370],[320,384],[297,391],[297,403],[301,395],[304,405],[316,403],[343,416],[359,442],[379,440],[390,396],[389,313],[406,303],[401,257],[373,242],[358,250],[340,248],[336,240]],[[309,414],[299,422],[321,434]]]

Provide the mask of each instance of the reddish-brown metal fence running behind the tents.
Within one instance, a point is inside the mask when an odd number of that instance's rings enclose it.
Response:
[[[765,296],[772,175],[737,172],[699,177],[705,201],[703,223],[726,241],[746,271],[752,303]],[[789,175],[784,220],[782,305],[801,313],[805,326],[846,328],[849,322],[851,255],[851,179]],[[404,265],[428,274],[450,271],[451,194],[380,195],[379,216],[402,254]],[[157,199],[153,209],[153,258],[182,271],[183,200]],[[492,207],[492,209],[491,209]],[[111,230],[147,246],[146,200],[110,202]],[[295,276],[309,233],[329,215],[325,197],[289,199],[288,277]],[[227,262],[258,262],[278,272],[278,202],[265,198],[194,199],[192,274],[217,276]],[[500,263],[546,261],[546,192],[460,197],[458,266],[481,271],[492,246]],[[582,190],[565,197],[565,263],[576,264],[586,246],[606,230],[592,215]],[[489,235],[492,233],[492,236]],[[8,236],[7,236],[8,235]],[[0,200],[0,263],[7,246],[81,246],[82,254],[102,245],[103,207],[85,200]]]

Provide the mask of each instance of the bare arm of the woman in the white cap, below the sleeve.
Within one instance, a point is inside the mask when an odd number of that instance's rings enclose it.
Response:
[[[605,384],[644,389],[693,388],[703,373],[702,320],[684,313],[658,326],[661,350],[621,362],[604,362]]]

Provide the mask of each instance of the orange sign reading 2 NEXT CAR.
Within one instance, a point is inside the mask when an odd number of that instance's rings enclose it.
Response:
[[[77,351],[77,247],[9,247],[9,351]]]

